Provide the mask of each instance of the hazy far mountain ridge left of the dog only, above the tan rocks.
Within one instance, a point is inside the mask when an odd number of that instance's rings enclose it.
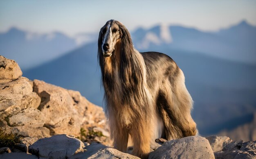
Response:
[[[60,32],[38,34],[13,27],[0,33],[0,52],[17,61],[23,70],[58,58],[92,40],[95,40],[95,33],[68,37]]]

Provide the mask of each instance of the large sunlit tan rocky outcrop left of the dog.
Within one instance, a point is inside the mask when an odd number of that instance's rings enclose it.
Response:
[[[0,56],[0,64],[0,127],[6,133],[18,133],[27,146],[56,134],[111,145],[101,107],[78,91],[20,77],[13,60]]]

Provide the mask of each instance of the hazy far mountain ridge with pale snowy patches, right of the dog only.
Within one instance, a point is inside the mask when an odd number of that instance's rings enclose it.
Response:
[[[157,25],[149,29],[138,28],[132,37],[139,49],[172,48],[202,52],[231,61],[256,63],[256,27],[246,21],[217,32]]]

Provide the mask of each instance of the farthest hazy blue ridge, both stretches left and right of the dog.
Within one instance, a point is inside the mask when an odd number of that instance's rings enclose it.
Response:
[[[131,35],[139,50],[171,48],[202,52],[242,63],[256,63],[256,26],[245,20],[217,32],[159,24],[148,29],[137,28],[131,31]],[[79,33],[68,37],[60,32],[37,34],[12,27],[6,33],[0,33],[0,52],[1,55],[16,60],[22,69],[28,69],[83,44],[97,41],[97,38],[98,33]]]

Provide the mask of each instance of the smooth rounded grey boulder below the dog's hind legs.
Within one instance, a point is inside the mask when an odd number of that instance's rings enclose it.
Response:
[[[150,152],[149,159],[214,159],[207,139],[189,136],[164,142],[157,150]]]

